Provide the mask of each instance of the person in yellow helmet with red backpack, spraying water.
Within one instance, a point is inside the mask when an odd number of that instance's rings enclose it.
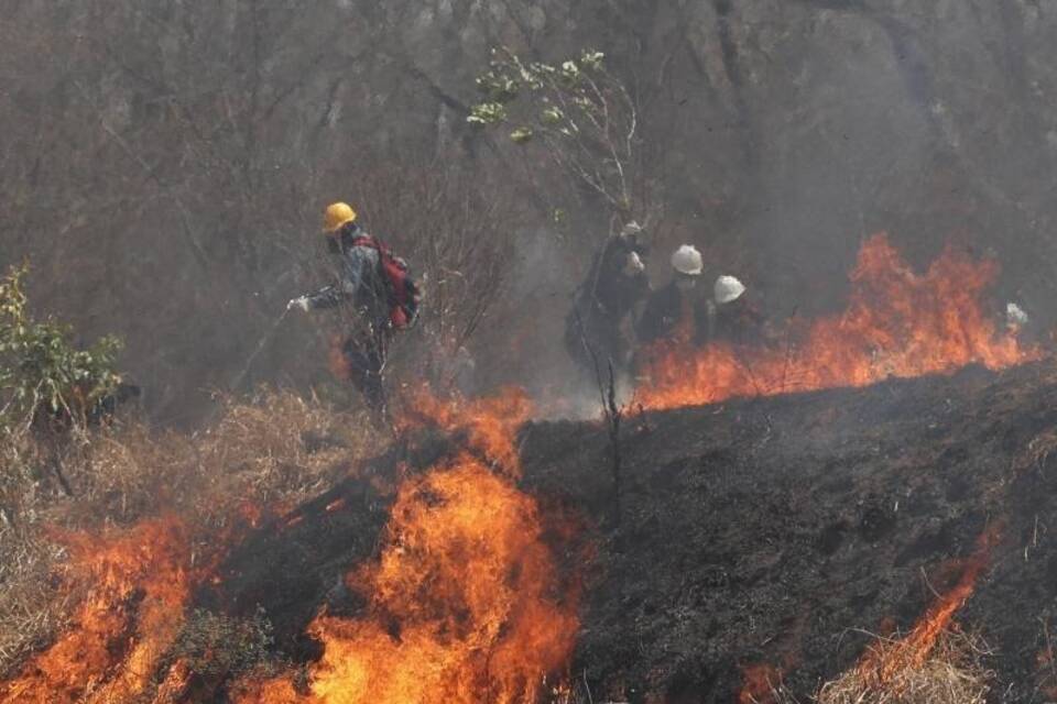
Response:
[[[304,311],[346,306],[352,331],[341,343],[344,372],[373,410],[385,414],[382,373],[394,329],[414,324],[421,293],[407,266],[356,222],[345,202],[327,207],[324,216],[327,246],[338,257],[337,283],[294,298],[286,306]]]

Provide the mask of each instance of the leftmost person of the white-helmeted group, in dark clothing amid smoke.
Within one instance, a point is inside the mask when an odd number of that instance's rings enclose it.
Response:
[[[592,382],[596,374],[607,373],[610,362],[617,372],[628,369],[631,344],[623,327],[650,293],[646,254],[642,227],[629,222],[606,240],[573,298],[565,348]]]

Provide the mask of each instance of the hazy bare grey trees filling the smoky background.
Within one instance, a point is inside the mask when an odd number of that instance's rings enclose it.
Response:
[[[30,256],[31,301],[86,339],[123,337],[159,421],[193,421],[285,300],[320,283],[318,213],[336,198],[399,243],[440,301],[401,355],[467,346],[478,384],[557,383],[568,294],[611,211],[557,176],[527,177],[528,152],[466,123],[497,45],[541,61],[606,54],[638,107],[643,177],[663,206],[658,276],[668,248],[689,241],[780,315],[813,314],[841,305],[861,239],[886,229],[914,260],[948,240],[993,253],[1001,296],[1053,321],[1047,3],[4,9],[0,265]],[[324,383],[337,321],[283,326],[250,381]]]

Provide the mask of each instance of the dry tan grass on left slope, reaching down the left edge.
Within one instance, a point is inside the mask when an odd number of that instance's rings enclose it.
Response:
[[[356,470],[389,441],[366,416],[291,393],[224,400],[220,419],[193,436],[126,425],[62,446],[7,438],[0,451],[0,678],[62,626],[57,584],[65,550],[47,529],[96,530],[161,514],[203,541],[247,506],[282,512]],[[54,479],[58,464],[74,488]]]

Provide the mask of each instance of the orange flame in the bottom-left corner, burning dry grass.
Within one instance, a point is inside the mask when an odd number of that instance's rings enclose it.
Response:
[[[176,518],[102,536],[63,535],[70,588],[90,584],[69,630],[0,683],[4,704],[130,702],[176,639],[192,588],[190,542]]]

